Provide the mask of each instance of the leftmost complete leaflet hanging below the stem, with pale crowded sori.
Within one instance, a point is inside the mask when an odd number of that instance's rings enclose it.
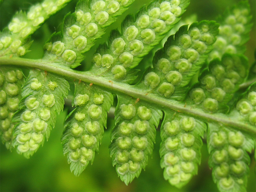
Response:
[[[68,95],[68,82],[46,71],[30,70],[22,90],[20,110],[13,116],[13,146],[26,158],[33,155],[56,123],[56,113],[63,110],[64,97]]]

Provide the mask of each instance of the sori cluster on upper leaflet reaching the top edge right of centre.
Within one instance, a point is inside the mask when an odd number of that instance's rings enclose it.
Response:
[[[158,44],[163,39],[163,34],[178,21],[178,17],[184,12],[184,7],[180,7],[184,5],[180,4],[179,0],[153,2],[147,10],[139,12],[135,22],[126,21],[128,24],[123,25],[123,34],[110,42],[111,46],[105,51],[106,54],[94,55],[95,66],[112,67],[113,79],[123,80],[126,68],[138,65],[142,56]]]

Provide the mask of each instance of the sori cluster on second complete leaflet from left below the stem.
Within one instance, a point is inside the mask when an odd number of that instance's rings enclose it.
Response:
[[[77,107],[84,106],[88,101],[89,96],[87,94],[77,94],[74,98],[74,104]],[[81,112],[74,113],[75,121],[73,121],[70,130],[72,138],[69,138],[68,142],[69,159],[72,162],[79,162],[81,166],[87,165],[94,157],[95,148],[99,148],[103,127],[100,126],[97,120],[101,118],[102,108],[100,105],[103,101],[103,94],[95,93],[93,98],[94,104],[88,106],[87,114]],[[77,111],[79,111],[79,108]]]

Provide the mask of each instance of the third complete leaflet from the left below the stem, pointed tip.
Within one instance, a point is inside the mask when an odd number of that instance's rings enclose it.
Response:
[[[156,127],[162,112],[153,105],[118,95],[115,127],[111,131],[110,156],[121,180],[128,185],[145,169],[152,156]]]

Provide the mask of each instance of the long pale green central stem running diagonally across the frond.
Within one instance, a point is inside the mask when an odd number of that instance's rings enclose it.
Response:
[[[77,71],[70,69],[67,66],[60,65],[59,63],[52,63],[51,61],[43,61],[42,59],[34,60],[34,59],[24,59],[24,58],[9,58],[9,57],[1,57],[0,58],[1,65],[15,65],[20,67],[30,67],[30,68],[39,68],[48,72],[55,73],[64,78],[68,79],[76,79],[82,80],[87,83],[93,83],[100,87],[103,87],[106,91],[111,93],[122,93],[126,95],[130,95],[134,98],[139,98],[140,100],[144,100],[147,102],[154,103],[159,106],[159,109],[163,111],[167,109],[174,110],[178,113],[184,113],[186,115],[190,115],[196,117],[198,119],[203,120],[204,122],[217,122],[222,125],[231,126],[237,130],[245,131],[248,133],[256,134],[256,128],[247,123],[234,121],[230,119],[228,116],[222,113],[205,113],[201,109],[193,108],[190,105],[184,106],[184,103],[168,100],[153,93],[146,93],[145,91],[136,88],[135,86],[125,84],[122,82],[112,82],[103,77],[95,76],[90,73],[90,71]]]

